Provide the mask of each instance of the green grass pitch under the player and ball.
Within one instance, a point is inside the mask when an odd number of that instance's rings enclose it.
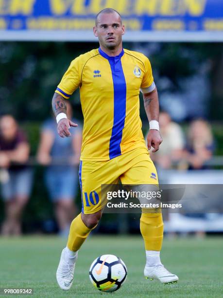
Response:
[[[178,284],[162,285],[144,279],[141,237],[91,236],[79,252],[74,283],[68,292],[60,290],[55,279],[65,244],[65,240],[49,236],[0,238],[0,287],[33,288],[31,297],[41,298],[223,297],[222,238],[164,239],[161,260],[180,280]],[[89,281],[91,262],[103,254],[117,255],[127,266],[128,278],[114,293],[102,293]]]

